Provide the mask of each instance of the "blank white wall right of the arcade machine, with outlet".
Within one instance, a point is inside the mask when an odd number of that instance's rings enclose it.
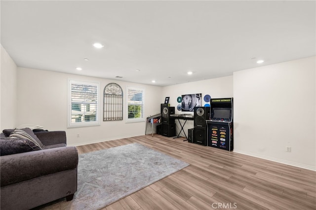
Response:
[[[316,170],[315,63],[234,72],[235,152]]]

